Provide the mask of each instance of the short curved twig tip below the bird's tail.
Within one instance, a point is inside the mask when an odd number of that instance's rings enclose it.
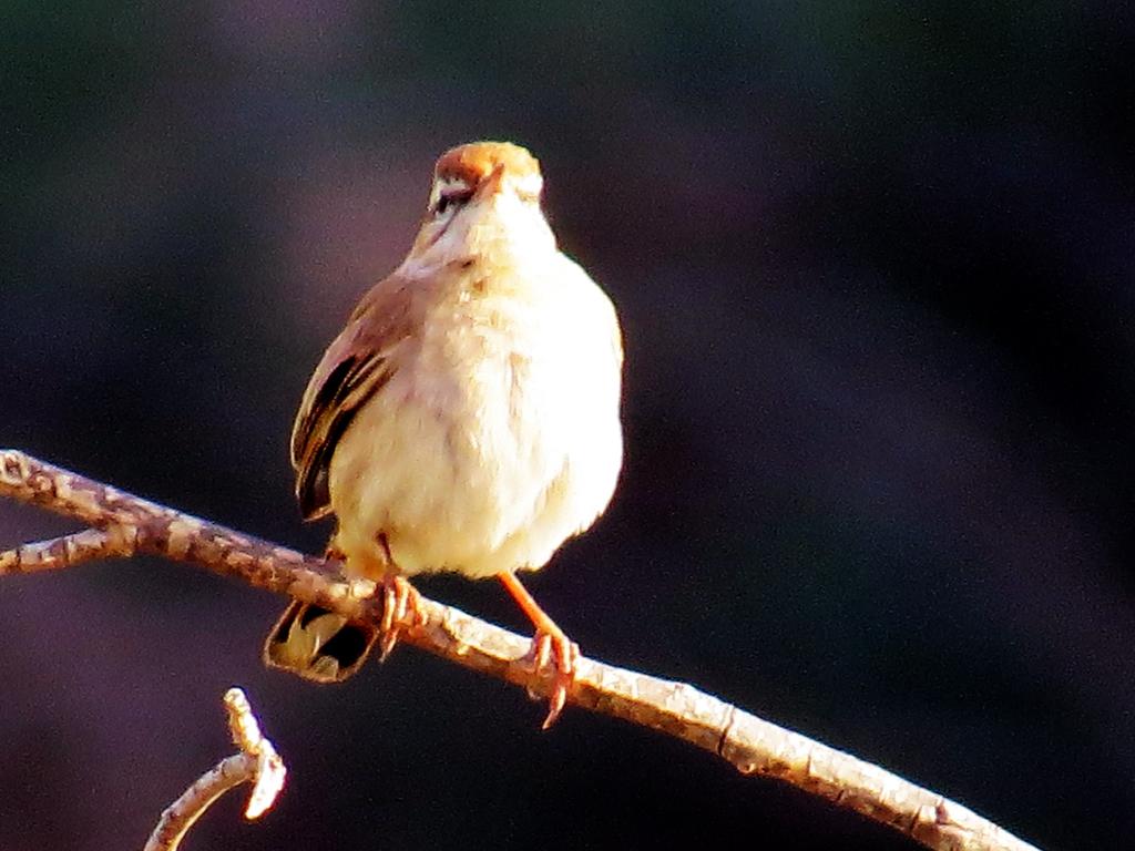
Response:
[[[260,818],[276,801],[287,774],[284,760],[272,743],[260,735],[260,725],[243,691],[229,689],[225,693],[225,709],[233,743],[241,752],[222,759],[169,804],[142,851],[177,851],[185,834],[213,801],[242,783],[253,784],[245,818]]]

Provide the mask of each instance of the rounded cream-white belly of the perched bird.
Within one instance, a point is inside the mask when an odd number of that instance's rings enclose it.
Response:
[[[570,262],[570,261],[565,261]],[[572,264],[572,269],[578,269]],[[330,466],[352,573],[543,566],[587,529],[622,461],[614,314],[595,285],[431,318],[392,357]],[[465,302],[463,302],[465,303]]]

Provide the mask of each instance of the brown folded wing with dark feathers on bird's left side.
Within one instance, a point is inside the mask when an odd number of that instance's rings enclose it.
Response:
[[[331,455],[355,412],[394,373],[392,355],[411,334],[413,303],[410,283],[397,273],[376,285],[327,347],[308,382],[292,427],[295,495],[306,520],[331,509]]]

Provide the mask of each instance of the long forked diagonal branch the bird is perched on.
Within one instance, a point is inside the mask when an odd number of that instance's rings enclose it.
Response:
[[[337,563],[234,532],[84,479],[17,450],[0,450],[0,496],[41,506],[91,529],[0,553],[0,575],[74,566],[107,556],[190,562],[257,588],[378,625],[381,598],[344,582]],[[530,639],[422,599],[421,622],[401,639],[451,662],[547,694]],[[757,718],[686,683],[594,659],[579,660],[568,700],[658,730],[722,757],[743,774],[776,777],[890,825],[934,851],[1036,851],[959,803],[799,733]]]

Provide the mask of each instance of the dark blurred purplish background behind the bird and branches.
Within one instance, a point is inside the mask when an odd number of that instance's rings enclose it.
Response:
[[[620,490],[547,610],[1044,849],[1130,848],[1133,35],[1045,1],[9,0],[0,445],[319,550],[308,377],[437,154],[520,142],[628,351]],[[0,504],[2,545],[69,528]],[[495,583],[421,588],[526,629]],[[188,848],[915,848],[412,649],[269,673],[280,605],[150,559],[0,581],[0,849],[141,848],[229,752],[232,684],[289,785]]]

